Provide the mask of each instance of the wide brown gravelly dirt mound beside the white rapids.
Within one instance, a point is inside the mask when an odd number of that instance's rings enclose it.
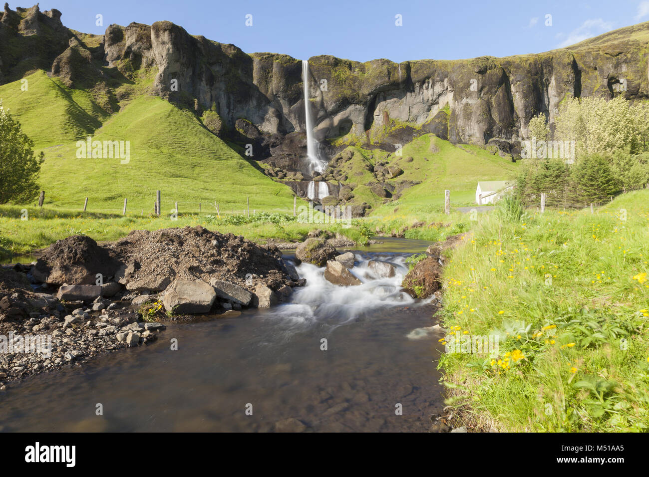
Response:
[[[225,280],[249,290],[257,284],[274,290],[291,284],[276,247],[200,225],[134,230],[107,249],[122,265],[116,279],[132,291],[161,291],[175,278]]]

